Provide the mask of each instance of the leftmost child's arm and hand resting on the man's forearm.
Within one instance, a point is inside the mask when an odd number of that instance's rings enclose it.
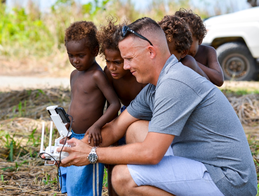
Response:
[[[104,72],[96,71],[93,75],[93,78],[96,82],[97,87],[102,91],[104,96],[107,99],[107,102],[110,103],[110,106],[107,108],[105,113],[87,130],[85,135],[88,135],[88,142],[91,142],[93,138],[93,143],[95,146],[102,144],[101,128],[109,122],[120,109],[120,101],[118,96],[114,92],[112,86],[110,85],[107,77]]]

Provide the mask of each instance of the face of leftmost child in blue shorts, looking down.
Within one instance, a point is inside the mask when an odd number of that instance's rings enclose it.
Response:
[[[78,71],[89,69],[99,52],[99,47],[95,48],[96,51],[90,51],[88,47],[85,47],[85,41],[69,41],[66,47],[70,63]]]

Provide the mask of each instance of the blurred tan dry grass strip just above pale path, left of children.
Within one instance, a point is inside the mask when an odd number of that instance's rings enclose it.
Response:
[[[98,55],[96,62],[104,68],[103,58]],[[66,50],[56,50],[47,57],[7,58],[0,55],[0,73],[4,76],[64,77],[69,78],[75,69],[69,62]]]

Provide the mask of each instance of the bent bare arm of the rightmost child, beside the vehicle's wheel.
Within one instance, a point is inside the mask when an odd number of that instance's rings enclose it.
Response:
[[[207,66],[198,63],[199,67],[207,74],[211,82],[216,86],[222,86],[224,83],[224,76],[220,67],[217,52],[213,47],[206,47],[207,50]]]

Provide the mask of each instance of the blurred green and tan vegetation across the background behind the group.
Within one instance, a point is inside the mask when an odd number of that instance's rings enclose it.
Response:
[[[40,73],[69,77],[72,67],[63,40],[70,23],[90,20],[100,26],[111,16],[117,17],[118,23],[125,18],[135,21],[144,16],[159,21],[180,8],[192,9],[203,19],[211,16],[205,8],[191,5],[191,1],[150,0],[146,9],[137,10],[131,0],[94,0],[86,4],[57,0],[47,12],[41,12],[33,0],[28,0],[25,8],[15,1],[17,5],[12,9],[0,2],[0,71],[10,73],[11,69],[11,73],[19,75]],[[232,7],[228,11],[233,11]],[[105,66],[101,58],[96,60],[101,67]]]

